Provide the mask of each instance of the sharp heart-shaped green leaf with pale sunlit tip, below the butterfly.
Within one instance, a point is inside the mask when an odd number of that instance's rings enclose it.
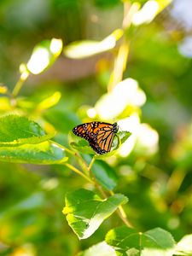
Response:
[[[112,195],[102,200],[98,195],[86,189],[79,189],[66,195],[66,207],[63,213],[67,222],[79,239],[90,237],[121,204],[128,200],[125,195]]]

